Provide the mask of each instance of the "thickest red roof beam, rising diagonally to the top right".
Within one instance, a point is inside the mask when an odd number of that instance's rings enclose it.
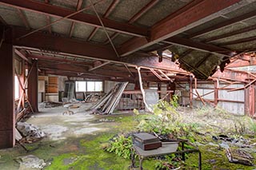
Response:
[[[182,12],[178,12],[178,14],[170,14],[163,22],[156,23],[151,28],[150,39],[133,38],[125,42],[118,51],[121,53],[121,57],[134,53],[139,49],[146,48],[166,38],[173,37],[176,34],[180,34],[195,26],[217,18],[222,14],[226,14],[234,10],[234,8],[245,5],[244,3],[238,2],[241,2],[241,0],[207,0],[199,1],[195,4],[194,2],[190,2],[187,5],[189,8],[184,7],[186,10],[182,10]]]

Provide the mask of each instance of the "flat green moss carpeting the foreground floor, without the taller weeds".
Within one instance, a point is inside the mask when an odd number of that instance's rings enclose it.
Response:
[[[114,122],[106,122],[102,125],[108,127],[106,132],[97,132],[94,135],[84,135],[80,138],[68,138],[66,140],[50,141],[41,140],[33,144],[25,144],[30,152],[26,152],[20,146],[0,150],[0,169],[13,170],[18,169],[18,163],[14,158],[18,156],[34,155],[50,163],[46,170],[122,170],[128,169],[131,161],[126,160],[114,153],[106,152],[102,149],[102,144],[105,144],[113,136],[120,132],[133,132],[141,119],[149,117],[148,115],[139,115],[134,117],[131,114],[126,115],[110,115],[110,116],[96,116],[96,119],[107,118],[114,120]],[[207,131],[207,129],[206,129]],[[250,137],[251,140],[255,136]],[[201,144],[213,142],[211,136],[194,135]],[[256,140],[255,140],[256,142]],[[232,164],[226,158],[225,150],[216,145],[200,145],[202,152],[202,169],[254,169],[254,167],[245,166],[242,164]],[[256,157],[256,153],[252,154]],[[154,164],[158,160],[145,160],[143,162],[144,169],[154,169]],[[256,161],[254,160],[254,164]],[[198,154],[188,154],[188,159],[182,169],[198,169]]]

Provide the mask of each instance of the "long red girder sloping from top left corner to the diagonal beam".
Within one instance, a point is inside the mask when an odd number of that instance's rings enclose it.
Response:
[[[16,0],[2,0],[0,2],[1,5],[5,6],[12,6],[14,8],[18,8],[21,10],[29,10],[38,14],[46,14],[50,15],[55,18],[64,18],[67,15],[73,14],[73,10],[68,10],[59,6],[52,6],[50,4],[46,4],[43,2],[37,2],[32,0],[26,1],[16,1]],[[78,13],[70,18],[66,18],[71,22],[80,22],[84,24],[88,24],[90,26],[102,27],[101,23],[98,21],[98,18],[91,14],[86,13]],[[122,23],[122,22],[115,22],[110,19],[102,18],[102,22],[106,27],[106,30],[112,30],[116,32],[120,32],[123,34],[130,34],[138,37],[147,36],[147,29],[132,26],[130,24]]]

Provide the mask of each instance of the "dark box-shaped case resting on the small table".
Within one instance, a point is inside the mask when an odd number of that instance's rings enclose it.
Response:
[[[162,142],[158,139],[158,137],[147,132],[135,133],[133,143],[143,150],[162,147]]]

